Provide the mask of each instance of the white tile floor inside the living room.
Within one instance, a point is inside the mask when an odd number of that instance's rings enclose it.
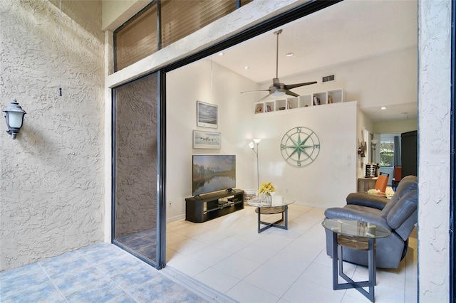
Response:
[[[332,289],[323,212],[291,205],[289,229],[263,233],[251,206],[205,223],[168,223],[167,266],[239,302],[369,302],[356,289]],[[417,301],[416,248],[413,233],[398,270],[377,271],[376,302]],[[368,277],[366,267],[349,263],[344,272]]]

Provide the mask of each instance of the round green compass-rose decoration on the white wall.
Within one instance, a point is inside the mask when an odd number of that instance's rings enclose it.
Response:
[[[313,130],[294,127],[282,137],[280,151],[289,164],[296,167],[308,166],[320,152],[320,140]]]

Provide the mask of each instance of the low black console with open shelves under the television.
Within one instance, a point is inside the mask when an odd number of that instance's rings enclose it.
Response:
[[[244,209],[244,191],[217,191],[185,198],[185,220],[201,223]]]

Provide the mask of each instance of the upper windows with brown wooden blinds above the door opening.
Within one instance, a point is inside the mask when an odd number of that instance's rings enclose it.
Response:
[[[242,0],[241,5],[252,1]],[[236,0],[162,0],[160,4],[161,33],[156,1],[114,32],[116,71],[155,53],[158,35],[165,47],[237,9]]]

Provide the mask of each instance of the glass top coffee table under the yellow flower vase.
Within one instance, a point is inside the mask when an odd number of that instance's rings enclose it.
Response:
[[[255,213],[258,213],[258,233],[271,228],[281,228],[288,229],[288,206],[294,203],[294,200],[291,198],[276,198],[272,201],[271,205],[261,204],[259,201],[249,201],[247,202],[250,206],[255,206]],[[281,219],[276,220],[273,223],[265,222],[261,220],[261,215],[274,215],[276,213],[281,213]],[[281,223],[281,224],[279,224]],[[261,225],[264,225],[261,227]]]

